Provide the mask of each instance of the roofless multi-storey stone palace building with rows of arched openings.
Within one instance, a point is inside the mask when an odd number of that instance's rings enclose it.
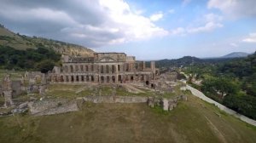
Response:
[[[50,83],[134,83],[154,87],[159,70],[125,53],[95,53],[91,57],[62,54],[62,66],[49,72]]]

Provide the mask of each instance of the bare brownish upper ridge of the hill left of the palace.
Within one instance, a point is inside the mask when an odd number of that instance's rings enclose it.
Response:
[[[44,37],[27,37],[20,35],[13,31],[9,31],[3,25],[0,25],[0,46],[9,46],[14,49],[53,49],[59,54],[71,55],[90,55],[95,52],[91,49],[85,48],[72,43],[64,43]]]

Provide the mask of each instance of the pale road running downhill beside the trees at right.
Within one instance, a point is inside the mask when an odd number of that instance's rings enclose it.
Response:
[[[201,100],[205,100],[207,101],[208,103],[212,103],[214,104],[215,106],[217,106],[220,110],[224,111],[224,112],[227,112],[228,114],[230,115],[233,115],[234,117],[237,117],[237,118],[240,118],[242,121],[246,122],[246,123],[249,123],[249,124],[252,124],[253,126],[256,126],[256,121],[249,118],[249,117],[245,117],[233,110],[231,110],[230,108],[226,107],[226,106],[223,106],[221,104],[219,104],[218,102],[216,102],[215,100],[212,100],[210,98],[208,98],[205,94],[201,93],[201,91],[195,89],[195,88],[192,88],[191,86],[187,85],[185,87],[185,89],[189,89],[191,91],[191,93],[193,95],[195,95],[196,97],[199,97],[201,98]]]

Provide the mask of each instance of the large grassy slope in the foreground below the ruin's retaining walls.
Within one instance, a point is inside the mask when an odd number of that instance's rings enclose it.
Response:
[[[146,104],[84,103],[61,115],[0,118],[0,142],[255,142],[256,128],[194,96],[172,112]]]

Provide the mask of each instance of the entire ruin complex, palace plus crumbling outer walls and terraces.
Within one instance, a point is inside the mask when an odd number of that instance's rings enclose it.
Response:
[[[30,109],[32,115],[35,114],[34,108],[37,108],[40,112],[37,115],[49,115],[78,111],[76,100],[84,100],[94,103],[148,103],[148,106],[160,106],[165,111],[171,111],[177,106],[177,100],[186,99],[181,94],[168,95],[174,92],[177,74],[166,72],[160,75],[154,61],[146,66],[145,61],[137,61],[134,56],[126,56],[125,53],[96,53],[93,57],[62,54],[61,61],[61,67],[55,66],[48,73],[25,72],[15,80],[7,74],[0,84],[3,107],[11,107],[12,113]],[[60,94],[60,99],[51,98],[54,94],[49,92],[49,87],[50,91],[58,92],[56,86],[79,86],[71,95],[75,97],[79,94],[79,97],[71,102],[62,102],[66,94],[64,88],[61,89],[63,94]],[[71,90],[67,89],[67,92]],[[26,94],[27,99],[14,100],[20,94]]]

